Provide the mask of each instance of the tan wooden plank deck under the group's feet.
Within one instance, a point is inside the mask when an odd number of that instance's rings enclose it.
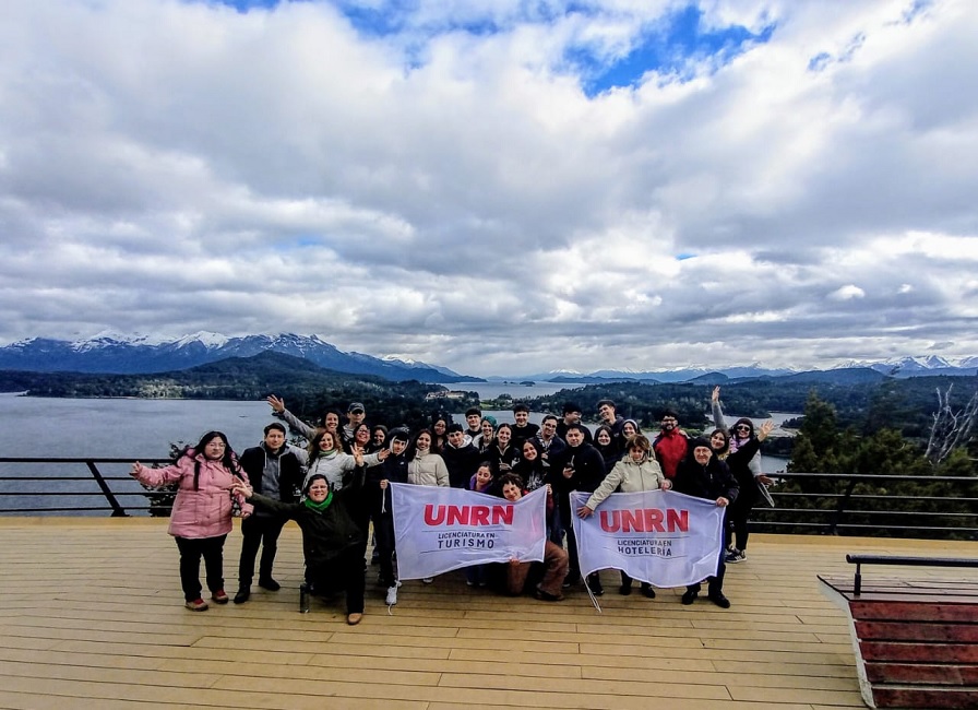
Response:
[[[228,539],[236,587],[240,533]],[[299,532],[279,543],[277,593],[183,608],[166,521],[0,519],[0,707],[92,708],[861,708],[848,626],[816,573],[846,553],[974,555],[975,543],[756,535],[728,567],[723,611],[681,590],[617,593],[598,614],[468,589],[461,573],[406,582],[387,614],[368,570],[367,612],[298,613]],[[884,568],[892,575],[891,568]],[[962,579],[973,570],[928,570]]]

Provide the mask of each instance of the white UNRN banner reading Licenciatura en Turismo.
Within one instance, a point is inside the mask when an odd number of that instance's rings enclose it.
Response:
[[[399,579],[486,563],[542,561],[547,489],[516,502],[461,488],[391,484]]]

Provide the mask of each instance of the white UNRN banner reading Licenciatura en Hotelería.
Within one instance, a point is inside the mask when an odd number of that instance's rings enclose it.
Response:
[[[712,500],[668,490],[616,493],[582,520],[576,510],[589,497],[571,494],[582,573],[620,569],[656,587],[685,587],[716,575],[724,509]]]

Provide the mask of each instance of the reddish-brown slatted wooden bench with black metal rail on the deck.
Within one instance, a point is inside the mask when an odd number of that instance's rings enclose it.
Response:
[[[847,555],[854,578],[819,576],[849,617],[862,698],[870,708],[978,708],[978,582],[881,578],[863,565],[962,568],[978,560]]]

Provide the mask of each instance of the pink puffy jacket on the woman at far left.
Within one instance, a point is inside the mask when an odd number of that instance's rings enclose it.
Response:
[[[193,488],[193,473],[200,463],[198,489]],[[178,483],[169,533],[175,537],[216,537],[231,531],[231,484],[235,476],[220,461],[211,461],[189,450],[177,463],[164,469],[147,469],[140,464],[132,474],[147,486]],[[251,514],[252,506],[238,496],[241,513]]]

